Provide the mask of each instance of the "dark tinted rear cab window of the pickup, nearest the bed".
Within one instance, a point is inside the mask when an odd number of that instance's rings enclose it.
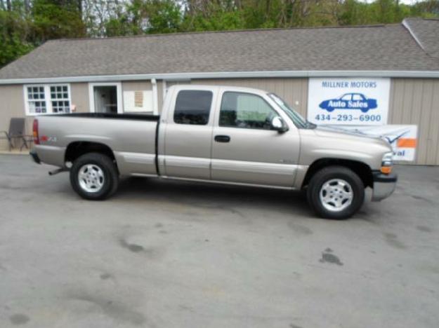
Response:
[[[178,124],[206,125],[213,94],[204,90],[181,90],[177,95],[173,121]]]

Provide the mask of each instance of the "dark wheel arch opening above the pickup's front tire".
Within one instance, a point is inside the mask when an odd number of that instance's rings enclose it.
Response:
[[[301,189],[304,189],[306,186],[308,186],[311,177],[313,177],[316,172],[322,168],[332,165],[339,165],[353,170],[353,172],[360,177],[365,187],[369,186],[373,188],[374,181],[372,177],[372,169],[366,163],[360,162],[359,160],[347,160],[343,158],[320,158],[315,160],[308,168],[306,175],[303,178]]]

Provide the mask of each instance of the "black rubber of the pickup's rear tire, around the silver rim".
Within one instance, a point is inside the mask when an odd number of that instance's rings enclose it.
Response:
[[[98,191],[86,191],[79,182],[79,170],[84,165],[96,165],[103,172],[103,186]],[[111,158],[102,153],[86,153],[74,160],[70,168],[70,184],[79,196],[88,200],[104,200],[109,198],[119,185],[119,173]]]

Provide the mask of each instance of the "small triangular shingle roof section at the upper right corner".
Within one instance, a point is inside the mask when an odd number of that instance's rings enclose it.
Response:
[[[419,46],[421,46],[428,55],[439,58],[439,20],[408,18],[404,20],[404,22],[415,39],[419,42]]]

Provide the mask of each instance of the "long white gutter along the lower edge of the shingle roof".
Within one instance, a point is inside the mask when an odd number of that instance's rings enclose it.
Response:
[[[190,81],[197,78],[306,78],[306,77],[393,77],[393,78],[439,78],[439,71],[218,71],[169,74],[125,74],[95,76],[63,76],[53,78],[9,78],[0,85],[25,83],[74,83],[138,80]]]

